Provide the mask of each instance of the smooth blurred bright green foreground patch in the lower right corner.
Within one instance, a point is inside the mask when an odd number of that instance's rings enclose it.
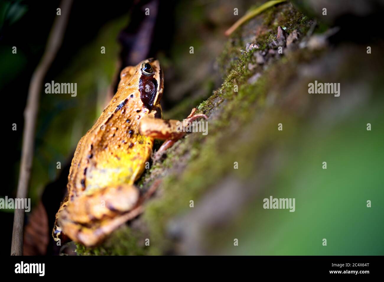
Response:
[[[380,103],[378,103],[380,105]],[[248,214],[233,224],[226,254],[382,255],[384,114],[362,109],[332,128],[304,129],[287,163]],[[372,130],[366,130],[366,124]],[[289,130],[285,128],[285,130]],[[323,161],[327,169],[322,169]],[[263,209],[263,199],[295,198],[296,211]],[[367,207],[367,200],[372,207]],[[225,238],[224,238],[225,237]],[[322,246],[323,238],[327,246]],[[223,242],[224,243],[224,242]]]

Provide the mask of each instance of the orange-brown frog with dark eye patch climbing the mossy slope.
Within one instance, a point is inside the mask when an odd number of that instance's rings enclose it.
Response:
[[[186,134],[178,120],[163,119],[163,92],[159,60],[149,58],[121,71],[116,94],[77,144],[52,231],[56,244],[96,246],[144,211],[154,191],[142,192],[134,183],[151,157],[159,159]],[[207,116],[193,108],[184,121],[197,118]],[[155,139],[164,143],[153,154]]]

